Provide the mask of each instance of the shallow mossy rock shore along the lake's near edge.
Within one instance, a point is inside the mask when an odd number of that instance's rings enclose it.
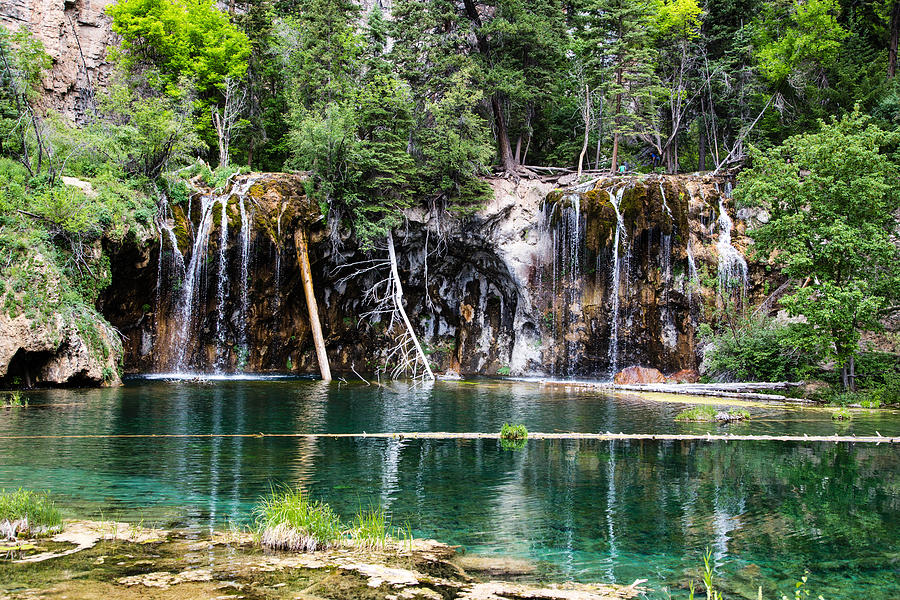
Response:
[[[253,534],[199,537],[135,524],[69,521],[52,538],[0,543],[0,599],[367,598],[625,600],[609,584],[537,584],[530,566],[473,557],[433,540],[310,553],[262,550]],[[518,581],[517,581],[518,580]]]

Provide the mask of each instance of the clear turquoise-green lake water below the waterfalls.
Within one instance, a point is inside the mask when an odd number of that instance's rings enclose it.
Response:
[[[548,579],[647,578],[674,596],[708,546],[731,598],[900,597],[900,452],[773,442],[296,438],[9,439],[23,433],[531,431],[900,435],[900,415],[751,408],[727,427],[679,424],[680,403],[512,382],[433,388],[241,381],[132,382],[30,393],[0,410],[0,487],[49,489],[72,514],[196,529],[245,521],[273,483],[351,516],[379,503],[417,535],[538,563]],[[657,592],[655,597],[665,597]],[[813,596],[814,597],[814,596]]]

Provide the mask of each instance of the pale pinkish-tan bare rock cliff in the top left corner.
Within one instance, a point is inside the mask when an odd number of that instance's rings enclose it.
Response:
[[[0,24],[24,27],[40,40],[53,64],[43,80],[40,103],[72,121],[93,110],[94,93],[106,85],[113,0],[3,0]]]

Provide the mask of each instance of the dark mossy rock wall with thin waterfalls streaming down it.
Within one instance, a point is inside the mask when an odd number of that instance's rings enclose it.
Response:
[[[332,369],[371,372],[392,332],[366,292],[385,273],[326,235],[304,176],[238,177],[164,205],[156,243],[124,248],[101,310],[137,372],[316,372],[293,233],[304,227]],[[440,369],[607,377],[695,368],[698,321],[756,294],[732,245],[727,182],[608,178],[554,190],[494,180],[471,218],[411,211],[395,236],[406,310]],[[727,247],[727,248],[726,248]],[[719,293],[717,289],[719,288]]]

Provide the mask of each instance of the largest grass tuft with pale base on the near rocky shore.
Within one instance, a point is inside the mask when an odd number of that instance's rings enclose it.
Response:
[[[254,509],[263,546],[275,550],[314,552],[341,539],[340,517],[321,501],[311,501],[300,488],[272,489]]]

